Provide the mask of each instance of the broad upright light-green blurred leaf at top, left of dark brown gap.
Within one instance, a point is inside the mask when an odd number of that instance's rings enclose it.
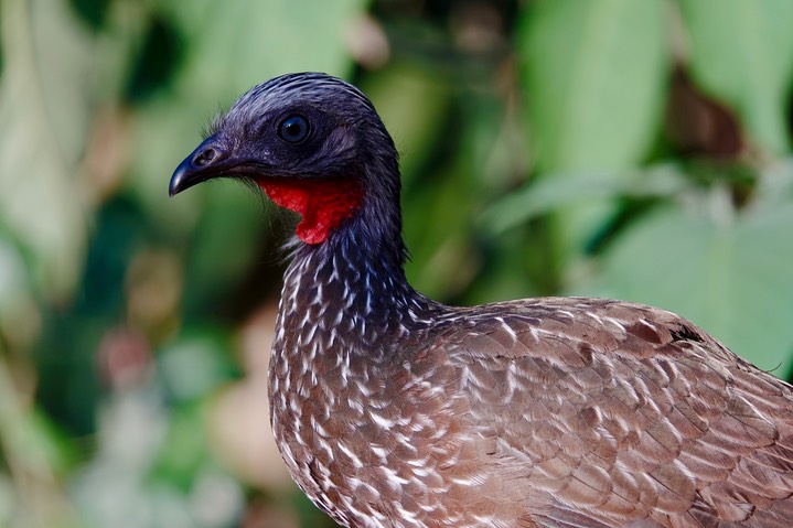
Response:
[[[518,29],[540,170],[635,165],[661,119],[668,52],[661,0],[544,0]]]

